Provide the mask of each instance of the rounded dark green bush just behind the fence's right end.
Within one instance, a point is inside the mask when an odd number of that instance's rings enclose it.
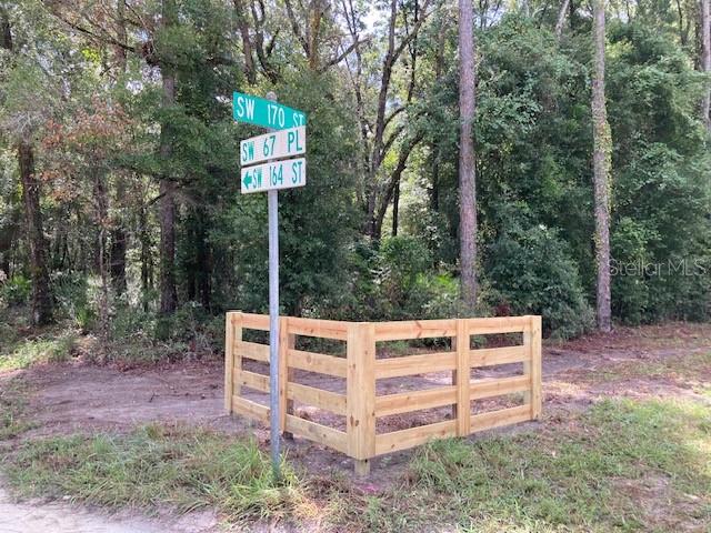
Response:
[[[544,333],[559,339],[592,325],[578,268],[554,230],[510,224],[485,250],[484,270],[492,308],[505,314],[540,314]]]

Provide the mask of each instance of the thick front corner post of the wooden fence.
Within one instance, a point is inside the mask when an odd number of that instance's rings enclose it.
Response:
[[[375,455],[375,325],[349,324],[346,381],[346,433],[356,474],[368,475]]]

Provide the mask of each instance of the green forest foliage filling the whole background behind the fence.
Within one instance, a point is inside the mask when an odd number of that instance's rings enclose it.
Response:
[[[237,179],[239,140],[261,130],[232,121],[231,93],[239,90],[273,91],[308,115],[308,185],[280,193],[281,312],[354,320],[458,312],[459,72],[450,12],[432,6],[390,71],[380,16],[352,49],[340,4],[314,14],[312,43],[297,34],[311,29],[300,10],[292,27],[282,3],[256,14],[240,7],[179,1],[174,23],[154,24],[160,2],[132,6],[139,27],[128,31],[126,61],[106,39],[114,28],[99,26],[88,39],[56,30],[52,2],[7,10],[17,46],[0,50],[0,266],[17,279],[0,289],[6,303],[27,301],[31,271],[20,237],[16,144],[23,138],[42,183],[44,252],[60,320],[69,316],[89,332],[107,312],[120,322],[111,326],[114,340],[137,332],[132,352],[162,346],[163,358],[187,345],[216,348],[219,328],[208,324],[226,309],[264,312],[267,202],[240,194]],[[360,21],[351,29],[368,26],[377,10],[368,2],[356,8]],[[591,27],[584,9],[572,6],[559,38],[555,10],[533,8],[507,6],[477,21],[480,309],[542,313],[547,334],[567,338],[588,326],[595,298]],[[83,0],[62,9],[68,20],[109,20]],[[613,313],[628,323],[707,320],[711,154],[698,109],[708,76],[694,70],[698,37],[689,24],[697,9],[645,1],[625,17],[608,14]],[[413,29],[413,3],[400,6],[395,41]],[[226,20],[246,22],[246,33],[226,32]],[[379,124],[385,71],[388,120]],[[162,80],[173,78],[174,98],[167,98]],[[379,128],[383,147],[373,145]],[[410,139],[421,142],[404,153]],[[159,260],[164,181],[177,191],[174,264]],[[395,190],[399,237],[371,242],[363,237],[367,213],[382,215],[390,229]],[[102,205],[106,213],[98,214]],[[110,268],[116,230],[128,243],[128,290],[118,295],[114,272],[106,310],[99,306],[100,228]],[[667,269],[620,274],[638,263]],[[158,318],[168,271],[184,309]],[[131,324],[131,314],[144,323]]]

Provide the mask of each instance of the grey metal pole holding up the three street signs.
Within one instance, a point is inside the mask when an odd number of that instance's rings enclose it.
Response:
[[[267,99],[277,101],[270,92]],[[270,130],[273,131],[273,130]],[[267,192],[269,212],[269,423],[271,464],[281,479],[281,435],[279,434],[279,192]]]

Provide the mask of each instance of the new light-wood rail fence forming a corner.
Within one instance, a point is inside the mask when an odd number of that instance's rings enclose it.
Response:
[[[269,316],[227,313],[224,405],[230,413],[268,424],[269,406],[263,400],[264,393],[269,393],[269,345],[243,340],[244,330],[269,331]],[[507,333],[520,333],[521,342],[498,348],[471,348],[472,335]],[[541,414],[540,316],[378,323],[282,316],[280,335],[281,431],[353,457],[359,474],[369,472],[369,460],[377,455],[417,446],[432,439],[465,436],[477,431],[534,420]],[[298,350],[298,336],[340,341],[337,344],[346,344],[341,350],[344,356]],[[437,338],[450,338],[451,342],[445,344],[451,348],[404,356],[378,358],[375,353],[378,342]],[[498,344],[501,344],[501,339],[499,336]],[[262,340],[268,342],[263,334]],[[517,375],[501,376],[499,372],[494,376],[479,379],[475,371],[472,379],[472,369],[512,363],[522,363]],[[500,369],[505,371],[510,368]],[[326,375],[321,381],[311,380],[303,384],[297,382],[297,373],[304,375],[303,371]],[[440,380],[439,386],[424,390],[378,393],[381,381],[431,373],[445,373],[448,379],[445,383]],[[328,382],[329,388],[337,391],[319,386],[322,382]],[[256,398],[259,394],[250,394],[246,389],[262,393],[262,401]],[[477,401],[514,393],[520,396],[519,405],[498,405],[499,409],[488,412],[477,410]],[[248,399],[248,395],[254,398]],[[293,409],[294,401],[318,408],[318,412],[330,412],[332,416],[327,422],[317,422],[313,420],[316,416],[308,413],[299,416]],[[451,415],[441,413],[440,420],[433,423],[390,432],[378,431],[381,418],[449,405]]]

